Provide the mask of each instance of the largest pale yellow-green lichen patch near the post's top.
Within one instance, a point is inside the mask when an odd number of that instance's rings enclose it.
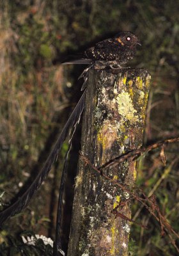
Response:
[[[135,124],[139,121],[136,109],[132,104],[130,94],[122,90],[118,95],[116,102],[118,103],[118,113],[122,116],[122,122],[128,120],[131,124]]]

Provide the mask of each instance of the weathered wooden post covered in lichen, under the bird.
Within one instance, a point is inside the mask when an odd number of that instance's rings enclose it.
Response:
[[[81,150],[100,167],[114,157],[139,148],[143,129],[150,75],[143,69],[90,70],[83,117]],[[132,187],[136,161],[128,159],[105,170],[113,180]],[[128,250],[130,195],[94,172],[79,159],[68,256],[124,256]]]

